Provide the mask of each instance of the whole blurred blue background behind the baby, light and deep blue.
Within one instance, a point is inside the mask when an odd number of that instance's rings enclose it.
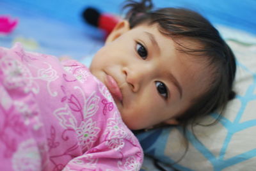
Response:
[[[198,11],[222,30],[256,34],[255,0],[153,0],[156,8],[172,6]],[[104,44],[104,33],[81,17],[84,9],[122,16],[120,0],[0,0],[0,16],[19,20],[12,33],[0,35],[0,45],[22,41],[28,50],[76,59],[92,56]],[[230,31],[226,31],[228,36]],[[247,34],[246,34],[247,35]],[[233,35],[234,36],[234,35]],[[250,37],[248,38],[250,40]]]

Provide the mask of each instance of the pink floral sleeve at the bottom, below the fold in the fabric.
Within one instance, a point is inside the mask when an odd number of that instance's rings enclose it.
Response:
[[[142,158],[139,147],[116,138],[102,142],[82,156],[74,158],[63,170],[140,170]]]

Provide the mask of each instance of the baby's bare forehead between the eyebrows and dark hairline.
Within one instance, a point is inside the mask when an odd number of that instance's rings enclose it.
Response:
[[[189,38],[174,39],[175,56],[179,61],[180,82],[184,87],[184,93],[191,96],[200,96],[211,86],[214,75],[214,66],[210,63],[201,49],[198,41]]]

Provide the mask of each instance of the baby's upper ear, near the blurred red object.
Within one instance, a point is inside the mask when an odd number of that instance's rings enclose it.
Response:
[[[130,24],[127,20],[122,20],[116,24],[115,28],[106,39],[106,43],[116,40],[119,36],[130,30]]]

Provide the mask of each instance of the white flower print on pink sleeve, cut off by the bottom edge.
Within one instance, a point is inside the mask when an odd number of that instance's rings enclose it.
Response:
[[[140,162],[134,156],[127,158],[124,164],[122,161],[118,161],[118,168],[124,171],[140,170],[140,165]]]

